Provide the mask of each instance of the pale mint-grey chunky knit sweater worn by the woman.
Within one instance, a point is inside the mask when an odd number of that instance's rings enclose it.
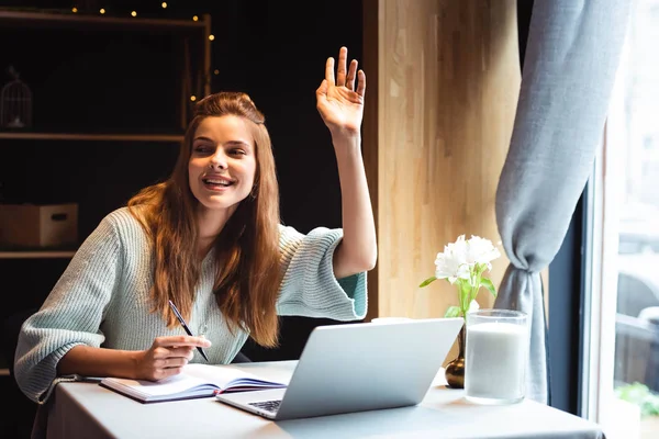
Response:
[[[284,270],[277,302],[279,315],[364,318],[366,273],[334,277],[332,257],[342,229],[319,227],[303,235],[280,226],[279,246]],[[194,308],[188,322],[193,334],[212,341],[205,348],[211,363],[233,360],[248,335],[231,334],[212,293],[215,274],[212,251],[202,262]],[[22,326],[14,362],[15,379],[32,401],[44,403],[55,384],[76,376],[57,376],[57,362],[74,346],[148,349],[154,338],[185,334],[168,329],[149,313],[153,251],[139,223],[121,207],[103,218],[71,259],[42,305]],[[192,362],[203,362],[194,351]]]

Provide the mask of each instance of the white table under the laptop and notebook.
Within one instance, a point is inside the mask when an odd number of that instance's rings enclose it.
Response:
[[[243,363],[286,381],[297,361]],[[444,386],[440,370],[422,404],[270,421],[214,398],[141,404],[93,383],[63,383],[49,407],[47,437],[74,438],[603,438],[599,425],[526,399],[479,406]]]

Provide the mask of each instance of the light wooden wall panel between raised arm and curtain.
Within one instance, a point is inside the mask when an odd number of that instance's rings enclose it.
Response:
[[[365,0],[364,154],[379,259],[369,316],[442,317],[455,286],[434,273],[465,234],[499,244],[494,196],[520,91],[515,0]],[[509,260],[491,273],[499,285]],[[483,290],[481,307],[492,297]]]

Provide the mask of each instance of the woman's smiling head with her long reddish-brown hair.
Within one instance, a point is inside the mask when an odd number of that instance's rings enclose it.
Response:
[[[144,189],[129,207],[156,236],[163,262],[155,268],[155,301],[168,325],[172,318],[160,301],[171,295],[190,312],[193,296],[181,292],[196,291],[197,266],[209,256],[217,260],[213,289],[223,292],[215,302],[232,329],[249,328],[257,342],[276,345],[279,195],[265,117],[247,94],[201,100],[170,180]],[[172,226],[152,232],[163,215],[172,217]]]

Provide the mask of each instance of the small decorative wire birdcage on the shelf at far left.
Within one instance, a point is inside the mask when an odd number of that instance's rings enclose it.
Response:
[[[9,67],[13,78],[0,92],[0,126],[3,128],[26,128],[32,126],[32,91],[20,78],[19,72]]]

